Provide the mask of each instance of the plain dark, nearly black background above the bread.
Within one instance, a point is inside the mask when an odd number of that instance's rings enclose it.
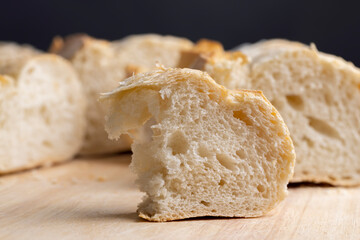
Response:
[[[1,0],[0,10],[0,40],[44,50],[53,36],[76,32],[110,40],[150,32],[210,38],[228,49],[287,38],[314,42],[360,66],[360,1]]]

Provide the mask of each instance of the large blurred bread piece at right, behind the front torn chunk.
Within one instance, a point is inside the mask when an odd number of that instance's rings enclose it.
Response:
[[[229,88],[264,91],[281,113],[297,155],[292,182],[360,184],[358,68],[314,46],[286,40],[244,46],[240,50],[246,57],[237,60],[229,60],[235,52],[219,57],[219,47],[209,49],[198,54],[197,61],[205,63],[196,68]],[[214,51],[217,56],[210,56]]]

